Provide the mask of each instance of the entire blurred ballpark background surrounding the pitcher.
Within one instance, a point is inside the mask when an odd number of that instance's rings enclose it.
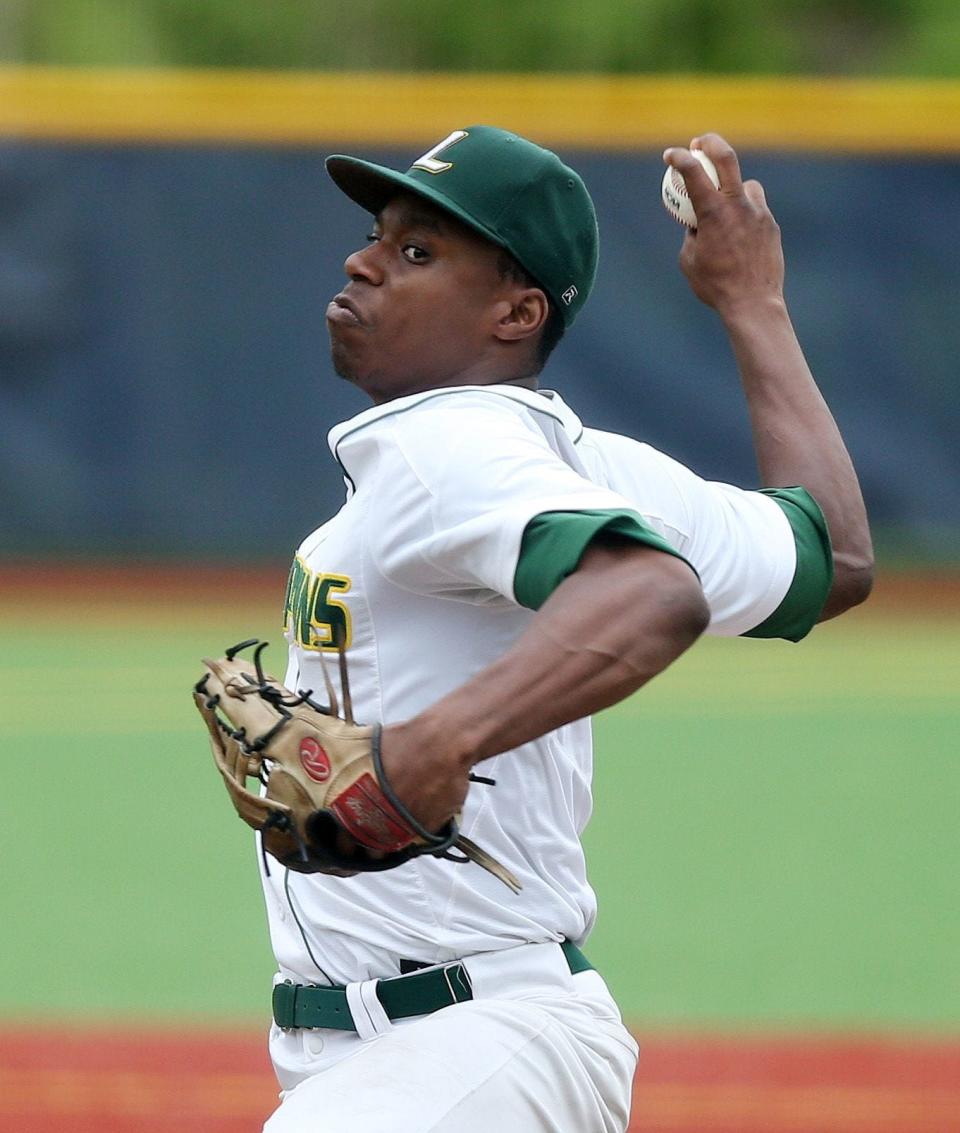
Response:
[[[545,384],[749,486],[659,203],[664,145],[729,136],[877,539],[861,610],[700,642],[597,722],[588,951],[651,1037],[637,1127],[960,1130],[960,8],[7,0],[0,1133],[269,1110],[253,850],[188,688],[231,640],[280,649],[289,555],[341,497],[324,437],[364,401],[323,309],[367,221],[324,155],[406,165],[476,121],[596,198]]]

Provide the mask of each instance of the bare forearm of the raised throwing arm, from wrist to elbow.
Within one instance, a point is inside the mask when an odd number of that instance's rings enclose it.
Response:
[[[783,300],[772,296],[720,314],[740,369],[763,484],[801,484],[826,518],[834,587],[823,616],[830,617],[869,591],[873,548],[857,474]]]

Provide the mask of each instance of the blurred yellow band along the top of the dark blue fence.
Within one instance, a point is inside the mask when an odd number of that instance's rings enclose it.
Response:
[[[960,82],[0,67],[0,135],[418,146],[490,122],[546,145],[960,153]]]

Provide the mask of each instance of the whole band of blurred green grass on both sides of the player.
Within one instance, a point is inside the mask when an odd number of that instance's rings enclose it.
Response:
[[[273,624],[6,611],[0,1012],[263,1016],[253,849],[188,690]],[[867,608],[703,641],[604,714],[588,951],[631,1021],[960,1031],[959,649],[958,617]]]

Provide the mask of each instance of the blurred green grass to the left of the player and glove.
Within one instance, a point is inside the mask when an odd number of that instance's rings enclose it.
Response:
[[[0,691],[16,769],[0,799],[2,1010],[262,1014],[272,962],[253,844],[189,690],[202,656],[271,637],[272,612],[80,613],[39,631],[26,614],[6,619]]]

